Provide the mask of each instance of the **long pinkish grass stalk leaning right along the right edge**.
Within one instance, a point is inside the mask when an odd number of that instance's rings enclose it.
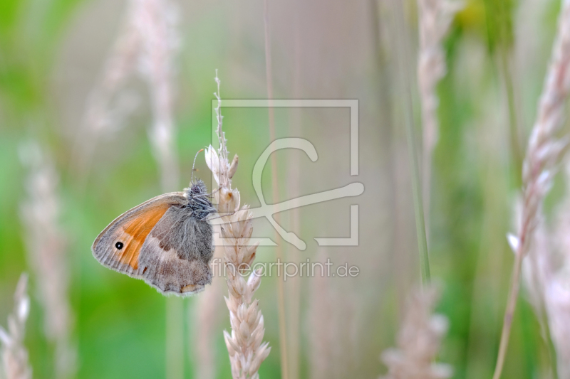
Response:
[[[559,139],[556,134],[564,120],[564,105],[570,90],[569,70],[570,0],[564,0],[549,70],[539,101],[537,120],[532,129],[522,166],[522,218],[518,236],[509,237],[515,259],[493,379],[501,377],[507,355],[512,319],[519,295],[522,260],[529,252],[539,223],[544,196],[551,187],[556,168],[568,145],[568,139]]]

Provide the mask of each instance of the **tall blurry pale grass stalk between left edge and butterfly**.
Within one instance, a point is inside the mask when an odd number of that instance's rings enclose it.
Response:
[[[50,154],[37,142],[21,146],[21,161],[29,169],[26,200],[21,203],[28,262],[38,282],[37,299],[43,308],[43,329],[54,347],[54,376],[76,376],[77,351],[73,343],[75,317],[69,300],[68,240],[61,228],[59,175]]]

